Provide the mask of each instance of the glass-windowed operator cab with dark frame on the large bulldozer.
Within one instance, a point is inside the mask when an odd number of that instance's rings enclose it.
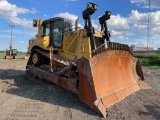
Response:
[[[50,36],[50,44],[52,47],[61,48],[63,42],[63,33],[71,30],[71,20],[55,17],[43,21],[41,34],[43,37]]]

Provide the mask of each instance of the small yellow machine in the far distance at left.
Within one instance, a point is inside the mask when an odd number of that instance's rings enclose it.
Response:
[[[6,50],[5,59],[15,59],[17,56],[17,49],[12,49],[12,40],[9,43],[9,50]]]

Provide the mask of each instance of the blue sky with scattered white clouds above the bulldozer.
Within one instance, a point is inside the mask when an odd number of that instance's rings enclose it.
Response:
[[[147,44],[149,0],[92,0],[98,10],[91,16],[93,26],[100,29],[98,22],[106,10],[112,12],[107,21],[111,32],[111,41],[144,47]],[[37,33],[32,20],[42,20],[56,16],[75,21],[79,17],[79,26],[83,28],[82,11],[86,0],[0,0],[0,50],[9,48],[11,28],[13,30],[13,48],[27,51],[28,40]],[[150,46],[160,48],[160,0],[150,0]],[[74,24],[74,22],[73,22]]]

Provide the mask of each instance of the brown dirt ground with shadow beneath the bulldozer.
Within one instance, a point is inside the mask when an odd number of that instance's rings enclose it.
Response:
[[[56,85],[25,75],[24,59],[0,59],[0,120],[103,120]],[[160,69],[143,67],[152,89],[140,90],[111,106],[108,120],[160,120]]]

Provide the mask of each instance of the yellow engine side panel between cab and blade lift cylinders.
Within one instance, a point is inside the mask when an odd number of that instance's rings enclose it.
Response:
[[[75,60],[83,57],[91,58],[90,38],[86,35],[86,30],[77,30],[72,34],[63,36],[63,54],[62,57]]]

